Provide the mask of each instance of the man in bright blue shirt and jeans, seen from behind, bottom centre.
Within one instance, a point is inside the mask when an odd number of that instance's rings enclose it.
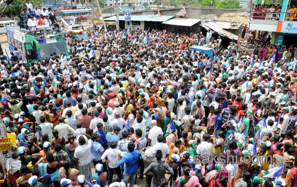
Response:
[[[129,187],[133,187],[136,179],[136,174],[138,171],[137,161],[141,158],[141,153],[138,150],[134,150],[135,145],[133,142],[128,143],[128,153],[125,155],[120,161],[118,157],[121,153],[117,154],[117,165],[123,166],[125,164],[125,170],[123,173],[123,182],[125,183],[126,187],[128,184],[128,180],[130,179]]]

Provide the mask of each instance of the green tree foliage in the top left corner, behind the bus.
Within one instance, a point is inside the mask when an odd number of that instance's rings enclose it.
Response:
[[[41,0],[29,0],[29,2],[33,5],[33,7],[41,5]],[[23,8],[23,6],[21,5],[24,5],[25,3],[26,3],[25,0],[13,0],[11,5],[15,5],[15,6],[2,6],[0,7],[0,11],[2,11],[6,7],[3,14],[7,16],[16,16],[21,13],[21,8]]]

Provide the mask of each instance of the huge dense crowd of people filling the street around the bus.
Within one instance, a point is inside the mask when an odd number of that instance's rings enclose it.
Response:
[[[208,56],[190,50],[199,33],[86,32],[65,37],[66,58],[1,60],[1,117],[16,135],[2,183],[297,186],[296,55]]]

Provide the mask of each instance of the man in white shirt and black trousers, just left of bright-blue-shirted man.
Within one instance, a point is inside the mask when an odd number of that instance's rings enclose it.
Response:
[[[118,178],[121,179],[121,167],[117,165],[117,154],[122,153],[122,151],[117,149],[117,142],[113,141],[110,143],[110,148],[107,149],[101,156],[102,162],[108,159],[108,173],[113,173],[116,171]],[[108,175],[108,185],[112,183],[113,175]]]

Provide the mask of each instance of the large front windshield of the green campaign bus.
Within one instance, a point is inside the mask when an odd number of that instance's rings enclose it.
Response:
[[[39,53],[42,58],[50,57],[50,55],[53,55],[54,52],[56,52],[57,55],[61,55],[61,53],[66,54],[66,47],[63,41],[39,45]]]

